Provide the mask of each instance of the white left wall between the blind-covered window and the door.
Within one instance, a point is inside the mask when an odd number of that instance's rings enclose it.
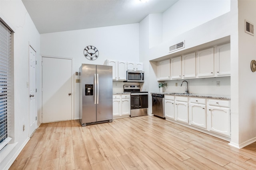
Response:
[[[0,1],[0,17],[14,30],[14,119],[12,120],[11,143],[16,147],[6,156],[0,152],[0,169],[8,169],[26,145],[29,127],[29,45],[40,57],[40,34],[21,0]],[[37,82],[39,84],[39,82]],[[37,96],[38,97],[38,96]],[[40,97],[40,96],[39,96]],[[25,125],[25,131],[23,131]],[[5,149],[5,148],[4,148]],[[6,156],[6,157],[5,157]],[[5,158],[4,158],[5,157]]]

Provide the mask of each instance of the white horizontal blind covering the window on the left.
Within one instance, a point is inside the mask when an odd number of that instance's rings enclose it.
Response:
[[[0,150],[11,139],[12,66],[12,31],[0,21]]]

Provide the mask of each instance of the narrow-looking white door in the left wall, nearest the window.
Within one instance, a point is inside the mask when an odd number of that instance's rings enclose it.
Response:
[[[31,136],[37,128],[37,109],[36,109],[36,51],[29,47],[29,130]]]

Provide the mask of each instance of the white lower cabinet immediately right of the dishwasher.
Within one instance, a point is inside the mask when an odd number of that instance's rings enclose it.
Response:
[[[175,119],[174,96],[164,96],[164,117]]]

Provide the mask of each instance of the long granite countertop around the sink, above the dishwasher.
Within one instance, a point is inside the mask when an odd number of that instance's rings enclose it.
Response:
[[[198,97],[198,98],[212,98],[212,99],[224,99],[230,100],[230,96],[223,96],[223,95],[212,95],[212,94],[186,94],[186,93],[170,93],[170,92],[162,92],[162,93],[154,93],[151,92],[150,94],[168,94],[173,96],[188,96],[188,97]]]

